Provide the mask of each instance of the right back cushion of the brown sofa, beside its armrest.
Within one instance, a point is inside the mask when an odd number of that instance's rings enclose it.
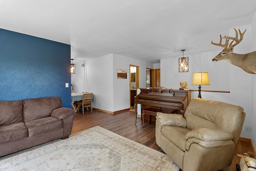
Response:
[[[24,122],[49,117],[55,109],[62,107],[60,97],[41,97],[23,100]]]

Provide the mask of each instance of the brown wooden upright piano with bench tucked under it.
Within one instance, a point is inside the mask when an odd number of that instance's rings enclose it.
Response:
[[[140,89],[140,94],[134,97],[134,108],[136,115],[135,124],[137,121],[137,104],[141,104],[141,113],[143,115],[142,119],[144,126],[144,114],[148,114],[148,121],[150,121],[150,113],[156,113],[157,111],[184,115],[190,100],[190,89],[180,90],[167,89],[164,87]],[[143,113],[144,111],[148,111],[148,113]]]

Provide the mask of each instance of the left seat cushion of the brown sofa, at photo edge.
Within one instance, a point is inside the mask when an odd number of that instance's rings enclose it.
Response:
[[[28,128],[23,122],[0,126],[0,143],[28,137]]]

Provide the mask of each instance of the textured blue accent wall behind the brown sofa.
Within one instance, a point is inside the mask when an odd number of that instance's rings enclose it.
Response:
[[[70,108],[70,84],[70,45],[0,29],[0,100],[59,96]]]

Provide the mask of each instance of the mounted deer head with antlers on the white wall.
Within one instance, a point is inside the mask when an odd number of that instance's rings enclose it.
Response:
[[[239,68],[242,68],[242,70],[244,70],[245,72],[248,72],[250,74],[256,74],[256,51],[248,54],[233,53],[234,46],[238,45],[243,40],[244,33],[246,32],[246,30],[244,30],[244,32],[242,33],[240,29],[238,29],[239,35],[240,35],[240,39],[238,39],[238,32],[235,28],[234,30],[236,32],[236,37],[230,37],[230,36],[222,37],[220,35],[220,43],[216,44],[214,42],[211,42],[211,44],[213,45],[224,48],[222,52],[220,52],[217,56],[215,56],[212,59],[212,61],[217,62],[220,60],[226,60],[230,64],[233,64],[234,66],[238,66]],[[226,39],[225,44],[222,44],[222,38]],[[230,44],[229,44],[229,40],[232,40]]]

